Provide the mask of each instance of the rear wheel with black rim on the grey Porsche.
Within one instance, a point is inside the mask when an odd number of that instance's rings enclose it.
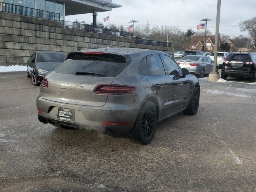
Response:
[[[131,142],[149,144],[156,132],[157,112],[156,106],[147,101],[141,108],[134,127],[127,136]]]

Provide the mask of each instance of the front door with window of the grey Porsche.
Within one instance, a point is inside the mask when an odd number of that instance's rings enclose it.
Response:
[[[166,66],[167,74],[169,75],[170,79],[174,82],[172,112],[176,112],[186,107],[189,95],[189,81],[186,76],[184,77],[182,75],[180,67],[178,67],[178,64],[172,58],[164,54],[161,55],[161,58]],[[179,76],[178,79],[177,76]]]

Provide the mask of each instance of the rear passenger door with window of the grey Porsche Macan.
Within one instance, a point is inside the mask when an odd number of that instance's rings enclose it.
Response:
[[[159,118],[161,118],[172,111],[173,81],[166,75],[160,55],[147,57],[147,74],[153,83],[152,90],[158,98]]]

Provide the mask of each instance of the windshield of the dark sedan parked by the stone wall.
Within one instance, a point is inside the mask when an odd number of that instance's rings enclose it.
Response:
[[[36,62],[63,62],[65,55],[60,53],[38,53]]]

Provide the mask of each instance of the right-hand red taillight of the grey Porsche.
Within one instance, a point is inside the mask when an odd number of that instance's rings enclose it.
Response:
[[[95,94],[103,95],[128,95],[133,94],[136,91],[136,87],[127,85],[111,85],[111,84],[100,84],[97,85],[93,92]]]

